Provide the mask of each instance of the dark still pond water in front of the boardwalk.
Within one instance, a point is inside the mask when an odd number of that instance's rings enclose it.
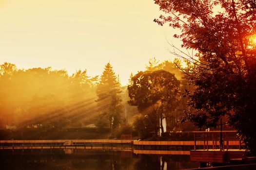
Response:
[[[111,150],[0,151],[0,170],[182,170],[199,167],[189,155]]]

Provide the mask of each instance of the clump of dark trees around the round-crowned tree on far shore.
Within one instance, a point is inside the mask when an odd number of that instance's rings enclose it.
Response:
[[[189,63],[186,64],[189,67]],[[153,58],[145,71],[131,75],[128,103],[138,108],[133,127],[141,138],[157,136],[159,128],[164,132],[163,119],[166,120],[167,136],[171,131],[197,129],[192,123],[182,121],[189,101],[187,94],[194,86],[189,84],[180,68],[182,63],[178,59],[159,63]]]

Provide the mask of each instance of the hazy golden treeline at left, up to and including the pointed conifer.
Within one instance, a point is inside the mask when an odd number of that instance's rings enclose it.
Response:
[[[114,129],[138,111],[127,103],[110,63],[102,75],[89,77],[86,70],[69,76],[52,68],[18,69],[0,65],[0,125],[46,129],[98,127]]]

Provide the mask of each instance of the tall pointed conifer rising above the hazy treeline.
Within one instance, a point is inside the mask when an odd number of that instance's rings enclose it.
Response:
[[[109,127],[115,128],[119,125],[122,110],[122,99],[120,97],[120,83],[110,63],[107,63],[96,90],[98,96],[99,111],[107,112]]]

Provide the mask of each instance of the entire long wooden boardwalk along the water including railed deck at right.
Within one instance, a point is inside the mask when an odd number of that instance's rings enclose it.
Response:
[[[200,167],[207,163],[213,166],[230,165],[236,159],[245,158],[243,142],[236,138],[235,131],[190,132],[194,140],[142,141],[132,139],[73,139],[73,140],[0,140],[3,153],[76,153],[82,150],[122,150],[135,154],[188,155]],[[222,134],[221,134],[222,133]],[[174,138],[176,139],[176,138]],[[177,138],[178,139],[178,138]],[[222,144],[220,141],[222,140]],[[17,150],[17,152],[15,152]]]

